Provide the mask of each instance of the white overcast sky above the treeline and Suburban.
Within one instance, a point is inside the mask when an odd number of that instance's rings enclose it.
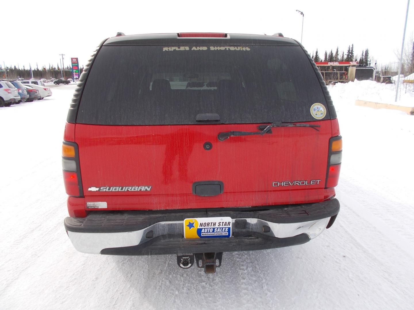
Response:
[[[16,42],[26,32],[29,45],[24,48],[0,47],[3,66],[39,68],[55,66],[60,53],[65,54],[65,65],[70,57],[79,57],[86,64],[96,45],[118,31],[125,34],[166,32],[226,32],[272,35],[282,32],[289,38],[301,39],[302,16],[303,45],[312,54],[318,48],[347,51],[354,43],[358,55],[368,48],[379,63],[397,62],[395,52],[400,50],[407,0],[348,0],[339,1],[53,1],[44,5],[30,5],[32,22],[11,24],[9,34]],[[342,3],[345,1],[341,1]],[[73,24],[51,22],[59,15],[65,21],[73,15]],[[44,18],[36,18],[44,17]],[[414,1],[407,23],[406,41],[414,36]],[[27,20],[27,19],[25,19]],[[32,28],[36,25],[36,29]],[[42,30],[37,30],[42,29]],[[34,45],[33,36],[37,36]],[[18,38],[17,38],[18,37]],[[5,43],[2,39],[2,45]],[[10,46],[10,45],[9,45]]]

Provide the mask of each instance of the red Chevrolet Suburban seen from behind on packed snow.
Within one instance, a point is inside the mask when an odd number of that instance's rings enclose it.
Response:
[[[223,252],[306,243],[339,212],[335,108],[308,52],[280,35],[106,39],[62,155],[65,230],[84,253],[177,254],[214,273]]]

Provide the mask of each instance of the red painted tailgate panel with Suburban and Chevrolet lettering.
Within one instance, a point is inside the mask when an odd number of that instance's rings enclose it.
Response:
[[[85,204],[106,202],[106,210],[160,210],[323,201],[334,195],[333,189],[323,188],[332,129],[330,120],[312,124],[319,124],[320,131],[281,127],[272,128],[272,134],[226,141],[218,141],[217,135],[258,131],[258,124],[76,124]],[[212,143],[211,150],[204,149],[205,142]],[[320,181],[272,185],[302,180]],[[192,186],[197,181],[222,181],[224,193],[196,196]],[[101,186],[151,186],[151,190],[88,191]]]

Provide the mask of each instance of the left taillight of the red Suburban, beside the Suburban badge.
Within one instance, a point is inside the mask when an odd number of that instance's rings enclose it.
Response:
[[[63,182],[69,196],[83,196],[82,181],[79,170],[78,147],[74,142],[63,141],[62,169]]]

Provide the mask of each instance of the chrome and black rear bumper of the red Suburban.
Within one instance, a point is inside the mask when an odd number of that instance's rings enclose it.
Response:
[[[319,236],[335,220],[339,202],[333,199],[323,203],[268,208],[260,211],[243,208],[170,213],[91,212],[86,218],[67,217],[65,229],[76,250],[92,254],[150,255],[259,250],[301,244]],[[183,237],[184,218],[221,216],[232,218],[230,238]]]

